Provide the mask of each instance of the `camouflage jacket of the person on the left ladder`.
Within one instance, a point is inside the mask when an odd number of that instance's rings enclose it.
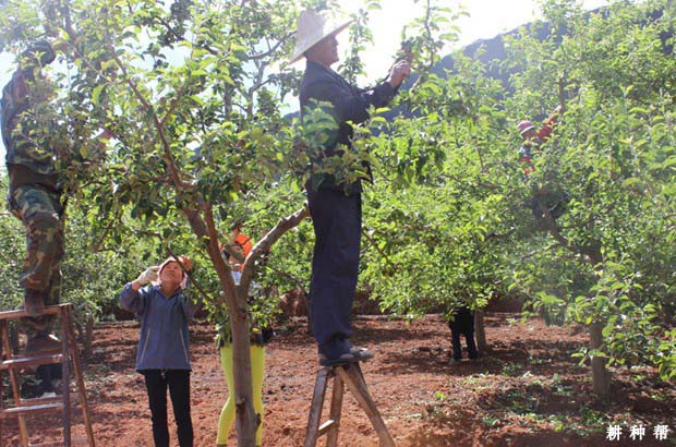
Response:
[[[31,82],[27,73],[17,70],[2,89],[2,142],[8,166],[21,165],[29,170],[55,173],[57,149],[56,113],[50,104],[53,89],[46,80]]]

